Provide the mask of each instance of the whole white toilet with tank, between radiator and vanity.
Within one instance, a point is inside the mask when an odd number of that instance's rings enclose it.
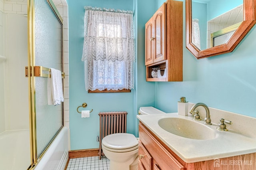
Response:
[[[154,107],[140,107],[141,115],[164,113]],[[138,139],[129,133],[114,133],[102,139],[102,150],[110,160],[110,170],[138,169]]]

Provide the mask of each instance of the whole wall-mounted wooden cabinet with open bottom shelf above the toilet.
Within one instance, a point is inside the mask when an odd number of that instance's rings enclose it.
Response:
[[[167,0],[145,24],[146,81],[182,81],[183,3]],[[161,75],[151,71],[159,67]],[[165,72],[165,73],[164,73]]]

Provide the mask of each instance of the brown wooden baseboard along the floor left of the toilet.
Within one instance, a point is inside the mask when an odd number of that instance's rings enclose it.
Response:
[[[99,148],[68,151],[68,158],[83,158],[90,156],[99,156]]]

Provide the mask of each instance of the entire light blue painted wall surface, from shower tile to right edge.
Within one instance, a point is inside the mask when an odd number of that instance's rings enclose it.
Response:
[[[256,28],[232,52],[197,60],[187,49],[185,1],[183,3],[183,80],[146,82],[144,65],[145,23],[165,0],[76,0],[69,1],[70,137],[71,150],[98,148],[100,111],[128,111],[128,132],[138,135],[136,114],[141,106],[155,106],[167,113],[177,112],[181,96],[191,103],[256,117]],[[136,30],[136,75],[132,93],[87,93],[84,63],[81,61],[84,36],[84,6],[123,10],[134,9]],[[86,102],[94,109],[90,118],[80,118],[76,108]]]

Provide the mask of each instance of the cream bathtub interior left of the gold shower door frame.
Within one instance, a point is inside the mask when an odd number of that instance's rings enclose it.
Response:
[[[0,134],[0,169],[26,170],[29,166],[29,129],[2,132]]]

